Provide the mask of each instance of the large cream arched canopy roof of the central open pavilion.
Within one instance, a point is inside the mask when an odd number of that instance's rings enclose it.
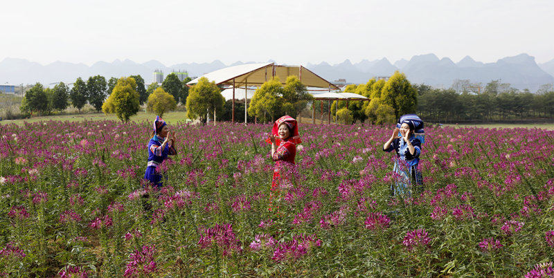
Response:
[[[279,77],[281,83],[285,84],[289,75],[296,75],[301,78],[303,84],[307,87],[316,88],[330,88],[333,90],[339,90],[339,87],[333,85],[331,82],[324,80],[312,71],[303,66],[279,66],[275,63],[261,63],[261,64],[242,64],[238,66],[229,66],[217,71],[212,71],[202,75],[208,80],[215,82],[215,84],[233,86],[258,86],[264,84],[267,80],[275,75]],[[198,77],[187,83],[192,86],[197,84]]]

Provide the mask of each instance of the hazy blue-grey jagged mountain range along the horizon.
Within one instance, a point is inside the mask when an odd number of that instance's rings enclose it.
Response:
[[[273,62],[273,61],[271,61]],[[229,66],[247,64],[235,62]],[[43,66],[26,59],[6,58],[0,62],[1,84],[34,84],[42,83],[51,86],[57,82],[73,83],[78,77],[87,80],[89,76],[102,75],[109,77],[121,77],[129,75],[141,75],[146,83],[152,82],[154,70],[163,71],[168,75],[173,71],[188,71],[190,77],[196,77],[209,73],[227,65],[219,60],[211,63],[183,63],[166,66],[156,60],[137,64],[129,59],[114,62],[97,62],[92,66],[85,64],[73,64],[69,62],[53,62]],[[439,59],[434,54],[416,55],[409,61],[401,59],[394,64],[388,59],[374,61],[362,60],[352,64],[348,59],[340,64],[330,65],[327,62],[321,64],[307,64],[317,75],[333,82],[340,78],[348,83],[365,83],[371,77],[390,76],[395,71],[406,74],[411,83],[428,84],[438,88],[449,88],[454,80],[470,80],[481,82],[483,86],[491,80],[501,80],[502,83],[510,83],[516,89],[529,89],[537,91],[543,84],[554,84],[554,59],[544,64],[537,64],[535,58],[527,54],[514,57],[505,57],[494,63],[476,62],[469,56],[454,63],[447,57]]]

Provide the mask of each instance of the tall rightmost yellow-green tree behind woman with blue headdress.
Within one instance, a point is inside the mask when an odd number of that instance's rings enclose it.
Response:
[[[400,118],[400,115],[415,113],[418,105],[418,94],[411,86],[406,75],[396,71],[383,86],[381,101],[383,104],[393,107],[395,117]]]

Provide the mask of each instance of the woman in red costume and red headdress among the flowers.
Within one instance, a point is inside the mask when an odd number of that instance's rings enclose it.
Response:
[[[298,135],[296,120],[289,115],[284,115],[276,120],[273,129],[271,129],[271,134],[267,137],[266,142],[271,143],[271,158],[275,161],[273,180],[271,182],[271,198],[274,193],[277,196],[279,195],[279,187],[291,185],[289,177],[285,176],[286,173],[280,173],[280,169],[283,169],[287,163],[294,164],[296,144],[300,144],[302,140]],[[271,210],[271,205],[269,210]]]

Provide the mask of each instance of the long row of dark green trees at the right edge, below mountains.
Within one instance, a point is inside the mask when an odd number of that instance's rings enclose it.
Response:
[[[457,84],[454,82],[454,84]],[[507,83],[492,80],[474,92],[467,87],[458,90],[434,89],[416,85],[418,114],[426,120],[515,120],[554,117],[554,91],[542,86],[537,93],[519,91]]]

